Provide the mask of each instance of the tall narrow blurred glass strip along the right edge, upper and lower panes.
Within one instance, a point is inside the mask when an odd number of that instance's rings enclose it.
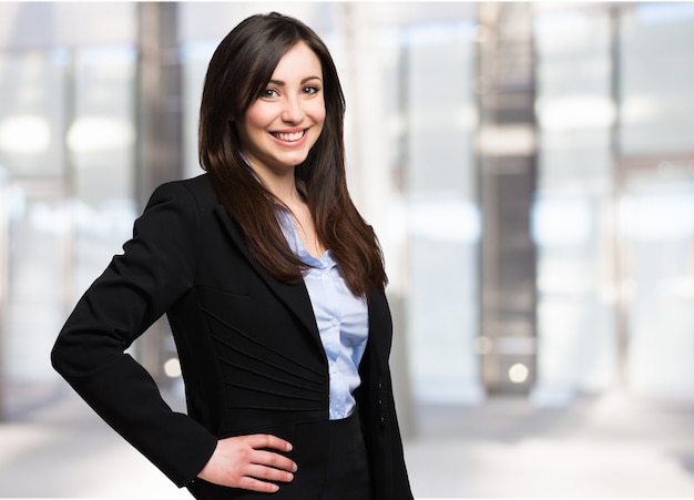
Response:
[[[621,23],[619,236],[625,366],[637,394],[694,381],[694,4],[646,3]]]

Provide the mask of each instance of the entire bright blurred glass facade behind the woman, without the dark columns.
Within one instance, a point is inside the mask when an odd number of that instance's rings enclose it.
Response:
[[[200,92],[233,25],[279,10],[326,40],[350,188],[390,275],[394,371],[416,401],[481,401],[477,58],[493,27],[478,6],[176,6],[185,176],[202,173]],[[533,4],[537,401],[694,382],[693,7]],[[65,315],[141,210],[140,21],[137,3],[0,3],[6,381],[54,380]]]

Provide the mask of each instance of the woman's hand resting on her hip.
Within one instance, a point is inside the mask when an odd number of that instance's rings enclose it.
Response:
[[[274,493],[275,482],[290,482],[297,466],[278,450],[292,451],[292,445],[271,435],[252,435],[217,441],[212,457],[197,475],[215,484]]]

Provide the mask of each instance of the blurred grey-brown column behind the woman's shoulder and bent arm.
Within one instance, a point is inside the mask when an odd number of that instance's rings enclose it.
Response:
[[[140,210],[157,185],[183,176],[177,9],[175,2],[137,4],[135,195]],[[137,346],[140,363],[160,381],[169,335],[167,323],[160,320]]]

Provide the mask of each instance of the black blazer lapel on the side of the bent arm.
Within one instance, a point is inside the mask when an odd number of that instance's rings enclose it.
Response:
[[[304,324],[306,329],[310,331],[312,336],[319,343],[320,348],[323,348],[318,326],[316,324],[316,317],[310,304],[310,297],[308,296],[308,290],[306,289],[304,282],[296,284],[284,283],[267,274],[267,272],[248,252],[248,246],[241,235],[241,231],[237,228],[236,223],[229,217],[226,208],[224,208],[223,205],[217,205],[214,208],[214,212],[228,236],[238,249],[241,249],[246,261],[248,261],[251,267],[266,283],[277,298],[287,305],[295,316]]]

